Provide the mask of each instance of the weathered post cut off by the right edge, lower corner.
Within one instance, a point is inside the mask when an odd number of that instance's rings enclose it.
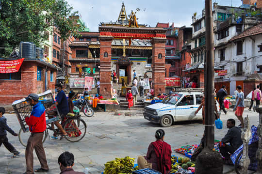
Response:
[[[257,108],[259,112],[259,125],[258,125],[258,136],[259,136],[259,145],[256,153],[256,158],[258,160],[258,170],[256,174],[262,174],[262,108]]]

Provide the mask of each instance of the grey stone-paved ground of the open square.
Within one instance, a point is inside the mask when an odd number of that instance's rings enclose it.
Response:
[[[258,125],[258,113],[247,111],[252,125]],[[8,125],[18,132],[15,114],[6,114]],[[47,174],[59,174],[57,164],[58,156],[64,151],[70,151],[75,156],[76,171],[83,171],[84,167],[90,167],[91,174],[100,174],[103,164],[116,157],[131,156],[137,158],[147,153],[147,147],[154,141],[156,129],[159,125],[152,124],[142,115],[125,116],[115,115],[114,112],[96,112],[94,117],[82,117],[88,125],[88,133],[80,142],[67,142],[66,140],[47,139],[44,143],[50,172]],[[215,139],[220,140],[227,132],[226,120],[235,118],[232,111],[227,115],[222,114],[223,129],[215,129]],[[236,119],[236,118],[235,118]],[[239,125],[239,121],[236,122]],[[204,126],[201,122],[176,123],[171,127],[164,128],[165,141],[171,144],[171,148],[179,148],[182,145],[191,145],[200,142]],[[18,158],[11,159],[10,154],[2,145],[0,147],[0,174],[22,174],[26,170],[25,147],[17,137],[8,133],[10,142],[21,152]],[[176,152],[173,155],[180,156]],[[37,157],[34,157],[34,168],[39,168]],[[232,170],[232,166],[224,165],[224,173]]]

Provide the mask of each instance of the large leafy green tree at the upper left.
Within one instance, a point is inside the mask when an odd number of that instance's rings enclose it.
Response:
[[[82,26],[73,25],[78,12],[65,0],[0,0],[0,57],[7,56],[21,41],[37,47],[47,39],[45,30],[58,28],[61,39],[79,36]]]

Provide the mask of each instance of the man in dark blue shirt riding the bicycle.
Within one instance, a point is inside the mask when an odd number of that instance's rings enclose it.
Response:
[[[60,83],[55,84],[55,90],[58,92],[58,94],[56,95],[55,104],[57,106],[59,113],[61,114],[61,118],[63,121],[66,114],[69,112],[69,107],[68,107],[66,94],[62,89],[63,89],[63,86]],[[66,131],[63,129],[62,125],[60,125],[58,122],[55,122],[55,126],[58,127],[63,134],[61,139],[64,136],[66,136]]]

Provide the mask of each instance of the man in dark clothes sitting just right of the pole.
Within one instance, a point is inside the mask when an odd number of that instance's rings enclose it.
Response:
[[[235,120],[228,119],[227,127],[229,128],[228,133],[222,138],[221,143],[219,144],[220,153],[225,160],[229,160],[230,154],[233,154],[242,144],[243,141],[241,139],[241,129],[239,127],[235,127]],[[230,145],[226,143],[230,143]]]

